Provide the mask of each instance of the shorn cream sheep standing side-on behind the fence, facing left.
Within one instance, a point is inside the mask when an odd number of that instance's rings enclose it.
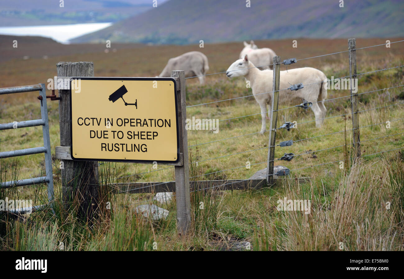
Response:
[[[244,76],[246,80],[250,81],[252,94],[254,95],[255,101],[257,101],[261,107],[261,134],[263,134],[263,132],[266,130],[265,112],[267,111],[267,104],[269,104],[268,116],[269,111],[272,110],[271,91],[273,74],[273,70],[267,69],[260,71],[259,69],[255,68],[254,64],[249,61],[247,55],[244,55],[242,59],[236,60],[236,62],[231,64],[229,69],[226,71],[226,75],[229,78]],[[316,127],[320,127],[324,121],[322,118],[325,117],[327,111],[326,107],[324,106],[324,102],[317,103],[318,101],[325,100],[327,97],[327,90],[323,86],[324,82],[327,82],[327,77],[318,69],[305,67],[290,69],[288,71],[280,71],[280,90],[289,88],[291,84],[303,83],[304,87],[296,91],[280,91],[279,102],[282,103],[286,100],[301,98],[313,103],[311,109],[316,117]],[[265,92],[270,93],[261,94]]]

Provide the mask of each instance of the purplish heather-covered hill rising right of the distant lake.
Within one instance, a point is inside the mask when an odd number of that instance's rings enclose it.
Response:
[[[170,0],[72,42],[189,44],[249,39],[404,36],[404,1]]]

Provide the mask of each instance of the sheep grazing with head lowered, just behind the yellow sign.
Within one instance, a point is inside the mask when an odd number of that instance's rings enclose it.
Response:
[[[185,78],[198,76],[200,84],[204,84],[205,77],[203,75],[208,70],[208,57],[202,52],[190,51],[168,59],[168,63],[160,73],[159,77],[170,77],[171,71],[185,71]]]

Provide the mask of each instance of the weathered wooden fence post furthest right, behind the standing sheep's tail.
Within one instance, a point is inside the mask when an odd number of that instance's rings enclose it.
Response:
[[[359,109],[358,92],[352,92],[352,79],[356,79],[356,39],[348,40],[349,48],[349,76],[351,76],[351,109],[352,109],[352,136],[353,154],[355,159],[360,158],[360,133],[359,133]]]

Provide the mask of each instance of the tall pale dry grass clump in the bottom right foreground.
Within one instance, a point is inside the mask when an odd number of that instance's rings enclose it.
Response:
[[[296,180],[286,180],[284,195],[311,199],[311,212],[274,210],[255,235],[255,249],[269,250],[276,243],[278,250],[402,250],[396,236],[404,233],[403,170],[400,160],[376,168],[357,162],[325,201],[313,185],[304,191]],[[386,195],[394,197],[396,210],[386,208]]]

